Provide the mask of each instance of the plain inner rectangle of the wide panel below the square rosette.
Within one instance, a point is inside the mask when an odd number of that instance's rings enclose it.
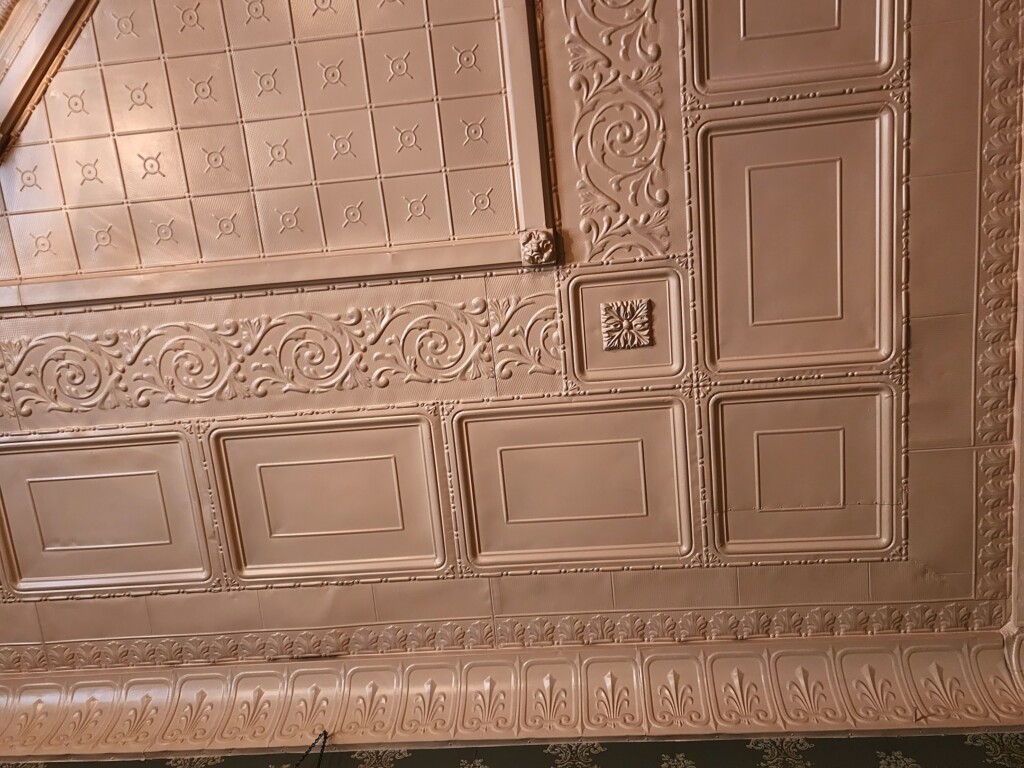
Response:
[[[509,522],[647,514],[642,440],[522,445],[498,453]],[[558,467],[561,478],[554,488],[536,482],[551,467]],[[580,488],[587,489],[586,497],[579,496]]]

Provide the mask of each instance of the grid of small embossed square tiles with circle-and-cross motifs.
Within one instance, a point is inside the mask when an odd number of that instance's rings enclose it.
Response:
[[[23,276],[515,231],[489,0],[102,0],[0,169]]]

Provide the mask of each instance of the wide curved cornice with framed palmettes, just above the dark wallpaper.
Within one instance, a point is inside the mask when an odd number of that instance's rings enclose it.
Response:
[[[1024,723],[998,634],[487,650],[0,676],[0,754],[966,729]]]

